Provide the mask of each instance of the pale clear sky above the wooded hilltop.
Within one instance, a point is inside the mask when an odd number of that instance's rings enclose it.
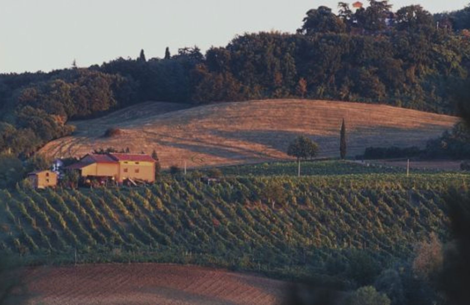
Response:
[[[118,57],[163,57],[181,47],[226,46],[244,32],[295,32],[305,12],[337,0],[0,0],[0,73],[102,64]],[[345,2],[348,2],[347,0]],[[354,2],[353,0],[350,1]],[[367,2],[363,0],[362,2]],[[391,0],[431,13],[470,0]]]

